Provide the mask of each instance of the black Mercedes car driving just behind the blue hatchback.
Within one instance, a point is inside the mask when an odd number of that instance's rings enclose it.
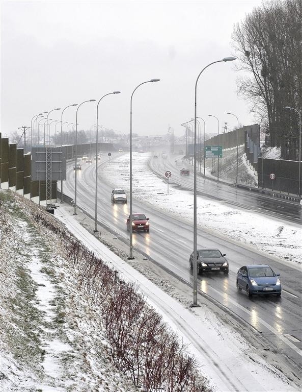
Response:
[[[226,254],[219,249],[198,249],[197,250],[197,271],[199,275],[204,272],[218,271],[225,275],[229,273],[229,262],[225,258]],[[189,266],[193,269],[193,252],[190,254]]]

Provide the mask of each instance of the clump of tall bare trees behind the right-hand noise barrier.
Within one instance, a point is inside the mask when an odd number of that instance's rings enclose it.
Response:
[[[267,115],[270,144],[297,159],[298,119],[284,107],[302,107],[302,2],[264,3],[236,24],[232,38],[246,75],[238,78],[239,93],[260,118]]]

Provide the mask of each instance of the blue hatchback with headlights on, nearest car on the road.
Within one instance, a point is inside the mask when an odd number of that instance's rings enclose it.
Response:
[[[266,264],[243,265],[237,272],[236,286],[245,290],[249,297],[253,294],[276,294],[281,296],[280,274],[273,272]]]

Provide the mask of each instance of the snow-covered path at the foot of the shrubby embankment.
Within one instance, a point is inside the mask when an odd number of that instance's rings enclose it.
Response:
[[[80,241],[113,265],[123,279],[138,283],[140,290],[174,331],[188,345],[202,366],[203,375],[215,391],[294,391],[294,385],[276,368],[261,358],[242,337],[219,322],[217,317],[201,306],[189,309],[132,268],[92,234],[83,231],[71,211],[64,208],[58,217]]]

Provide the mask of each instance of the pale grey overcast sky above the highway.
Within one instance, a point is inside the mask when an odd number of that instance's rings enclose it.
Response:
[[[194,116],[195,82],[209,63],[236,56],[234,24],[261,1],[4,1],[1,0],[1,132],[31,126],[38,113],[86,100],[78,130],[96,122],[121,133],[162,135]],[[207,132],[255,121],[237,96],[235,62],[211,65],[198,82],[197,115]],[[76,107],[63,122],[75,123]],[[48,119],[61,120],[61,111]],[[54,132],[52,124],[51,133]],[[66,127],[66,125],[65,125]],[[57,127],[59,128],[59,127]],[[70,129],[71,127],[69,127]]]

